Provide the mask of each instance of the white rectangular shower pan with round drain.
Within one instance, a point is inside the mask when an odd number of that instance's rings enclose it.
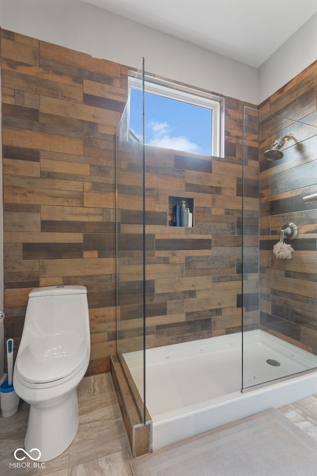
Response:
[[[146,351],[154,451],[317,392],[317,356],[261,330],[244,332],[243,341],[245,393],[241,333]],[[142,354],[124,354],[141,395]],[[280,365],[270,365],[268,359]]]

